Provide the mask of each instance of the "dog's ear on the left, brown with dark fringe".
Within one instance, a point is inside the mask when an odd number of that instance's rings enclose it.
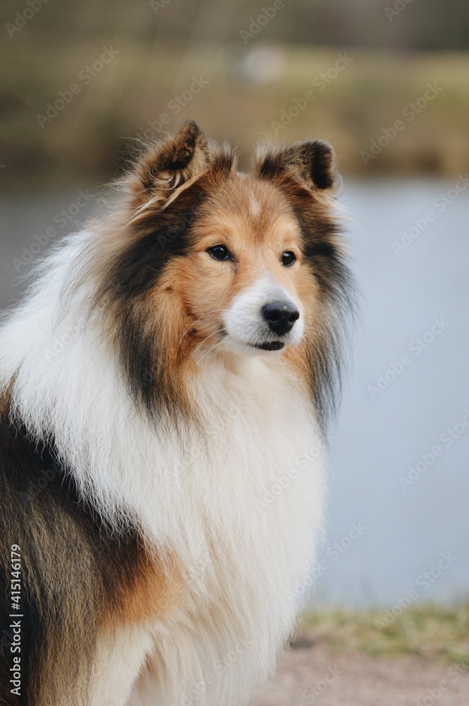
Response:
[[[208,161],[207,138],[193,120],[186,120],[175,135],[145,154],[135,172],[134,189],[142,201],[155,196],[165,201],[178,186],[202,174]]]

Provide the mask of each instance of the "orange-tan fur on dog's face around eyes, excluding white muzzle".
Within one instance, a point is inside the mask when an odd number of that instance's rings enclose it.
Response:
[[[252,194],[260,205],[258,215],[252,213]],[[217,244],[226,245],[236,261],[220,263],[207,256],[207,248]],[[296,254],[297,262],[291,268],[281,264],[285,251]],[[194,355],[203,357],[219,346],[224,311],[260,277],[272,275],[310,321],[318,313],[319,287],[301,263],[297,222],[290,205],[272,185],[236,175],[215,190],[200,209],[192,251],[170,261],[147,297],[146,321],[154,322],[159,338],[166,342],[168,384],[178,380],[179,391],[185,394]],[[314,338],[316,332],[308,330],[307,335]],[[300,371],[305,364],[304,347],[291,349],[286,359]]]

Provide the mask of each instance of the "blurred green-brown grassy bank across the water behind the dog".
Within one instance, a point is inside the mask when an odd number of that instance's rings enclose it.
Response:
[[[68,90],[80,71],[111,45],[116,58],[41,128],[37,114],[44,114],[46,104]],[[0,46],[4,185],[106,180],[121,172],[130,145],[142,136],[147,121],[164,112],[169,112],[170,131],[190,117],[213,138],[238,144],[242,167],[247,167],[253,143],[266,137],[281,142],[330,140],[341,171],[363,177],[376,172],[455,176],[469,164],[466,54],[353,49],[348,52],[350,65],[318,92],[312,81],[334,66],[343,49],[276,47],[284,66],[275,80],[260,85],[243,69],[250,47],[242,44],[189,48],[182,66],[181,47],[133,42],[115,33],[108,39],[63,38],[61,44],[31,35],[28,52],[11,47],[5,41]],[[208,85],[178,114],[169,111],[169,101],[188,88],[193,75],[203,76]],[[427,83],[444,90],[365,164],[360,151],[369,150],[383,128],[402,118],[402,109],[424,94]],[[272,122],[308,89],[315,90],[315,100],[275,134]]]

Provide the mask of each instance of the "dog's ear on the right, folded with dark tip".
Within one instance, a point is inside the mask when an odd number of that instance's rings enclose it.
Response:
[[[255,154],[254,173],[277,183],[299,181],[312,191],[334,192],[339,184],[334,150],[322,140],[279,148],[262,146]]]

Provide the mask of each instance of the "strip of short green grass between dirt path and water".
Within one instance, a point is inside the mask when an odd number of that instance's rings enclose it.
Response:
[[[377,627],[384,624],[385,615],[386,611],[377,609],[334,609],[308,612],[303,618],[312,639],[327,642],[336,652],[359,650],[372,657],[415,654],[469,669],[469,604],[410,606],[389,625]]]

